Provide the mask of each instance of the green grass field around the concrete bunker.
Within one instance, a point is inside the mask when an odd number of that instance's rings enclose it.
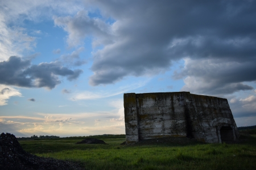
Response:
[[[97,137],[108,145],[75,145],[82,137],[19,141],[31,154],[80,162],[85,169],[255,169],[256,137],[236,144],[191,142],[120,145],[125,135]]]

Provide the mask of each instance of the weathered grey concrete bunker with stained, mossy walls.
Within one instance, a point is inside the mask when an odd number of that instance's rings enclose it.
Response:
[[[233,140],[239,137],[226,99],[189,92],[132,93],[123,98],[127,144],[168,136],[207,143],[221,142],[221,134],[233,133]],[[223,126],[229,127],[228,132]]]

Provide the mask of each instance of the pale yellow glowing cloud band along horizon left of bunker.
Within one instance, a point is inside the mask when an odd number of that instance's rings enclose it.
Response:
[[[59,135],[61,137],[96,134],[124,134],[124,121],[109,117],[122,115],[122,101],[113,101],[115,107],[109,112],[88,113],[34,113],[30,116],[0,116],[0,129],[18,137],[31,135]],[[123,110],[122,110],[123,111]],[[100,121],[99,121],[100,120]],[[100,124],[97,124],[99,122]]]

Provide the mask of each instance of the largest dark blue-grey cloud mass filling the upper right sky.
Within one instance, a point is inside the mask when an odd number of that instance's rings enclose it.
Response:
[[[55,18],[55,24],[68,32],[71,46],[86,36],[103,46],[93,52],[92,86],[164,73],[183,58],[255,63],[255,1],[90,2],[102,18],[80,11]],[[104,23],[109,17],[113,24]]]

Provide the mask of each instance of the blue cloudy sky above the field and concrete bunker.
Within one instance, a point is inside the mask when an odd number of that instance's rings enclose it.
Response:
[[[228,99],[256,125],[256,1],[0,0],[0,132],[125,134],[124,93]]]

